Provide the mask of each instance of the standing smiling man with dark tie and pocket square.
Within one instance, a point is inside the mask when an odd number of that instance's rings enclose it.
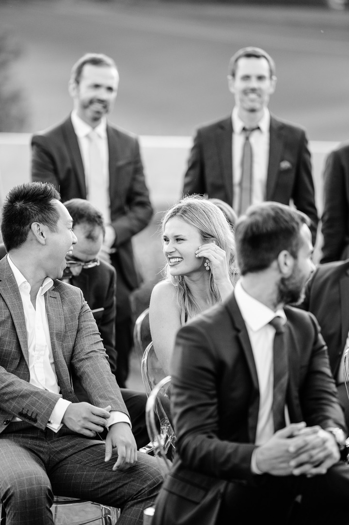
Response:
[[[235,107],[225,119],[198,128],[183,193],[220,198],[238,215],[249,204],[292,201],[311,219],[314,245],[318,212],[308,140],[303,129],[269,113],[276,81],[274,61],[263,49],[246,47],[231,57]]]

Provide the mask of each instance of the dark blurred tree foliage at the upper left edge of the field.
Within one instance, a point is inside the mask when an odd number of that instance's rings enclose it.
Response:
[[[13,62],[22,49],[6,33],[0,33],[0,132],[23,131],[28,121],[28,104],[23,88],[13,78]]]

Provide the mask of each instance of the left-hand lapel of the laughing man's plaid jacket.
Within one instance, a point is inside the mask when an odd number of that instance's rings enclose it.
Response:
[[[6,302],[7,308],[12,316],[20,348],[22,349],[29,370],[28,339],[22,297],[20,297],[17,282],[8,264],[7,257],[0,261],[0,275],[2,275],[0,294]]]

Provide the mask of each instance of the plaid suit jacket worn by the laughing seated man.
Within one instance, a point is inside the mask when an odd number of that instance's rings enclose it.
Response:
[[[110,371],[96,321],[81,290],[59,280],[45,294],[52,354],[62,396],[78,399],[71,384],[75,370],[91,403],[128,414]],[[0,433],[14,417],[44,429],[59,396],[29,383],[24,309],[7,258],[0,261]]]

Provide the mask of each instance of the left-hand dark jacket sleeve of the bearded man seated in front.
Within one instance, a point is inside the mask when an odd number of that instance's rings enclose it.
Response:
[[[251,480],[255,444],[219,437],[217,369],[214,342],[206,330],[182,327],[170,367],[176,449],[188,468],[221,479]]]

